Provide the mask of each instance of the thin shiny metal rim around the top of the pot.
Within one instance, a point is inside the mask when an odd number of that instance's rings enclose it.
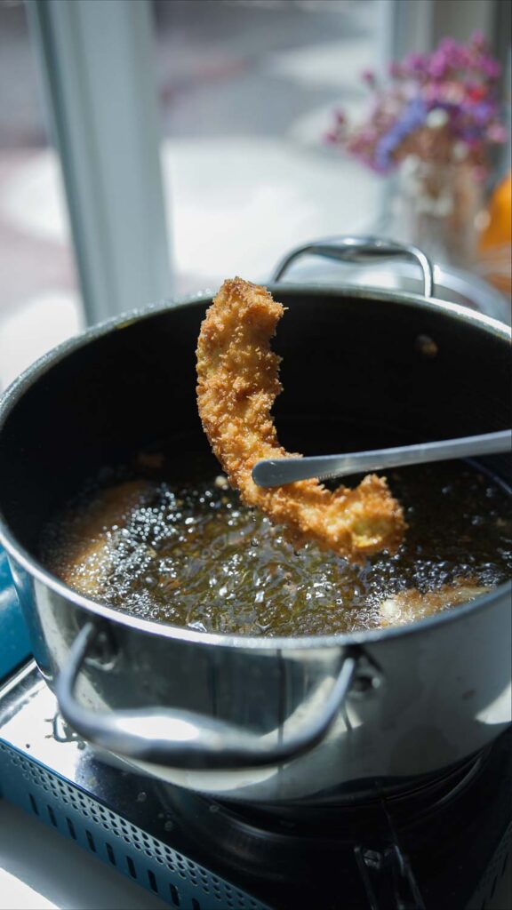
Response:
[[[492,319],[475,310],[466,308],[461,304],[449,303],[439,298],[425,298],[419,294],[409,294],[402,291],[386,291],[380,288],[366,286],[329,286],[316,284],[292,284],[286,282],[282,284],[269,284],[269,290],[272,294],[279,294],[282,291],[287,293],[297,293],[302,295],[317,294],[323,297],[356,297],[371,298],[373,300],[383,300],[391,304],[414,304],[419,308],[432,309],[439,308],[445,311],[450,317],[459,317],[470,323],[485,328],[491,334],[500,339],[510,340],[511,330],[505,323]],[[102,338],[112,330],[128,329],[145,319],[151,319],[163,312],[191,305],[200,305],[208,303],[213,297],[214,292],[207,288],[200,292],[190,294],[186,297],[163,300],[158,303],[149,304],[144,308],[137,308],[122,313],[114,318],[106,319],[97,323],[79,335],[63,341],[46,352],[42,357],[37,359],[20,376],[18,376],[11,385],[5,389],[0,397],[0,433],[5,424],[5,420],[17,402],[23,397],[26,390],[31,388],[44,374],[56,366],[61,360],[73,354],[77,349],[84,348],[90,342]],[[240,634],[224,634],[219,632],[196,632],[191,629],[180,628],[179,626],[168,625],[164,622],[156,622],[143,617],[136,616],[128,612],[115,610],[103,603],[92,601],[83,594],[67,587],[64,582],[56,579],[55,576],[46,571],[46,569],[34,559],[25,548],[21,547],[15,541],[14,535],[8,530],[2,511],[0,510],[0,544],[5,547],[5,551],[17,561],[23,568],[37,581],[42,582],[48,588],[55,591],[60,597],[72,602],[80,609],[92,613],[101,619],[110,622],[119,623],[128,626],[139,632],[148,632],[149,634],[159,635],[163,638],[177,639],[184,642],[203,645],[217,645],[220,647],[246,648],[259,651],[275,652],[276,648],[286,651],[293,650],[312,650],[315,648],[325,647],[347,647],[353,644],[364,645],[384,640],[391,640],[399,636],[409,636],[419,634],[423,631],[435,630],[443,626],[446,622],[462,622],[466,616],[473,612],[490,609],[492,605],[504,596],[507,591],[511,590],[511,582],[506,581],[497,586],[492,591],[482,594],[474,601],[467,602],[456,610],[438,613],[434,616],[426,617],[417,622],[408,623],[403,626],[390,626],[384,629],[366,630],[364,632],[346,632],[326,635],[304,635],[304,636],[252,636]]]

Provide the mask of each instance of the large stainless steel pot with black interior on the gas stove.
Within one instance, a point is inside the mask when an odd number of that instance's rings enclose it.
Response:
[[[507,428],[504,325],[430,298],[431,268],[415,248],[342,238],[318,252],[413,257],[425,293],[273,288],[288,307],[276,345],[285,445],[312,453]],[[158,438],[190,457],[206,449],[195,347],[209,304],[198,296],[91,329],[1,401],[1,540],[62,713],[118,761],[246,802],[329,803],[476,753],[510,723],[507,585],[399,629],[264,639],[115,611],[38,560],[48,518],[102,466]],[[435,358],[417,343],[425,335]],[[506,476],[506,458],[483,463]]]

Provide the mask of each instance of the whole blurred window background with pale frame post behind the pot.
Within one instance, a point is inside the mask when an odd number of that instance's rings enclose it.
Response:
[[[378,227],[384,181],[325,143],[333,111],[443,35],[480,29],[507,66],[509,20],[507,0],[0,0],[0,385],[87,321]]]

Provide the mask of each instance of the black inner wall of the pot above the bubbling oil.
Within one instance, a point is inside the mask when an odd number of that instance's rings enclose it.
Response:
[[[507,429],[507,340],[442,308],[368,294],[276,291],[288,308],[274,341],[284,387],[274,411],[287,448],[337,452]],[[161,441],[184,455],[177,480],[196,462],[207,476],[218,470],[195,392],[208,302],[109,330],[16,401],[0,431],[0,511],[27,551],[36,554],[46,521],[86,478],[137,450]],[[506,465],[493,462],[502,474]]]

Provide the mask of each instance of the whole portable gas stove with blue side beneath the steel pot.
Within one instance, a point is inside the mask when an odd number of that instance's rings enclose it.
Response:
[[[5,799],[182,910],[506,910],[512,730],[415,790],[375,782],[364,804],[221,804],[103,763],[67,728],[2,559]]]

